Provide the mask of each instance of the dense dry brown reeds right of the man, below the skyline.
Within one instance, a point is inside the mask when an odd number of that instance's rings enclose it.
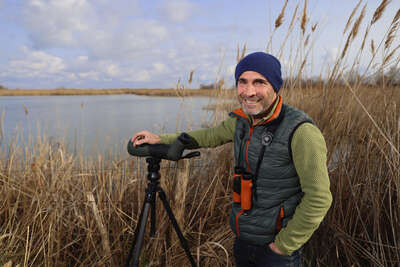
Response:
[[[329,151],[334,201],[305,248],[311,266],[400,262],[400,91],[377,89],[358,89],[363,106],[347,88],[286,97],[316,119]]]

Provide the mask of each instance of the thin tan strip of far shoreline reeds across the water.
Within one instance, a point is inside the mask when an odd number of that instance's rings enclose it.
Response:
[[[224,90],[229,91],[229,90]],[[166,96],[166,97],[185,97],[185,96],[206,96],[214,97],[218,95],[216,89],[3,89],[0,96],[52,96],[52,95],[116,95],[133,94],[145,96]]]

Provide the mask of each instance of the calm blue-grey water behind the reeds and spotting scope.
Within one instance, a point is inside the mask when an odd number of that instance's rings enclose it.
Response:
[[[0,97],[2,149],[15,140],[46,136],[64,141],[72,153],[125,153],[129,137],[140,130],[155,133],[197,129],[212,116],[202,108],[208,98],[135,95]]]

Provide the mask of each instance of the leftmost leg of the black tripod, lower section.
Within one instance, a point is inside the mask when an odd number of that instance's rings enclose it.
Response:
[[[133,252],[135,252],[135,254],[133,256],[132,266],[136,267],[139,264],[139,256],[143,245],[144,232],[146,230],[146,223],[147,223],[147,218],[149,217],[150,208],[151,208],[151,203],[145,202],[142,208],[142,212],[140,214],[139,224],[136,226],[135,237],[133,239],[132,248],[131,251],[129,252],[128,260],[126,261],[125,264],[126,267],[131,266],[130,263]]]

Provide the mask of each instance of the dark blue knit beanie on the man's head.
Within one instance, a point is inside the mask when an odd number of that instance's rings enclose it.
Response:
[[[236,66],[235,80],[238,83],[240,75],[245,71],[255,71],[267,78],[275,92],[279,92],[282,86],[281,63],[279,60],[264,52],[255,52],[245,56]]]

